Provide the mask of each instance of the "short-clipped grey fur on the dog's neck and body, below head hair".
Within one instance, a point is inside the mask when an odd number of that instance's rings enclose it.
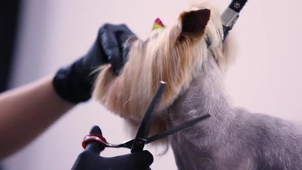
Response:
[[[179,169],[302,169],[302,129],[232,107],[213,57],[168,109],[168,126],[211,117],[170,136]]]

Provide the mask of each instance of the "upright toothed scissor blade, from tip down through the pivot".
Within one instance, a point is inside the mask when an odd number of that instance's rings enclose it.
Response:
[[[163,96],[165,86],[166,86],[166,82],[163,81],[159,82],[159,86],[157,88],[155,96],[153,97],[153,100],[151,101],[146,111],[146,114],[140,124],[140,127],[137,131],[136,137],[134,139],[131,148],[131,153],[143,150],[149,131],[152,126],[153,119],[155,118],[158,112],[159,104]]]

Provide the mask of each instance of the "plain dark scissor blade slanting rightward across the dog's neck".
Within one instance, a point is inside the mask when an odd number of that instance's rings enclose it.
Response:
[[[151,137],[149,137],[149,138],[147,139],[146,144],[147,144],[147,143],[154,142],[154,141],[156,141],[156,140],[159,140],[159,139],[161,139],[161,138],[164,138],[164,137],[166,137],[166,136],[169,136],[169,135],[171,135],[171,134],[174,134],[174,133],[176,133],[176,132],[178,132],[178,131],[181,131],[181,130],[184,130],[184,129],[186,129],[186,128],[189,128],[190,126],[192,126],[192,125],[196,124],[197,122],[202,121],[202,120],[204,120],[204,119],[206,119],[206,118],[209,118],[210,116],[211,116],[211,115],[200,116],[200,117],[198,117],[198,118],[196,118],[196,119],[189,120],[189,121],[187,121],[187,122],[185,122],[185,123],[182,123],[182,124],[179,124],[179,125],[177,125],[177,126],[174,126],[174,127],[170,128],[169,130],[166,130],[166,131],[164,131],[164,132],[161,132],[161,133],[158,133],[158,134],[156,134],[156,135],[153,135],[153,136],[151,136]]]

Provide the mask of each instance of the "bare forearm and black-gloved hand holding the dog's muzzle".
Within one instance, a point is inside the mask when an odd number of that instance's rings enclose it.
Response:
[[[25,146],[75,104],[89,100],[91,73],[98,66],[110,62],[118,74],[129,36],[133,33],[125,25],[106,24],[89,52],[55,76],[0,94],[0,159]]]

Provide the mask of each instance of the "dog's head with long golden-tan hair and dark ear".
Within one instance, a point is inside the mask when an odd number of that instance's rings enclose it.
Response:
[[[217,53],[218,64],[225,65],[222,53],[223,30],[220,14],[196,8],[183,12],[176,22],[153,30],[147,37],[132,42],[128,61],[119,76],[110,65],[102,66],[94,97],[107,109],[140,123],[159,81],[167,82],[160,112],[150,134],[165,130],[164,111],[184,92],[208,53]],[[207,48],[206,41],[211,41]]]

